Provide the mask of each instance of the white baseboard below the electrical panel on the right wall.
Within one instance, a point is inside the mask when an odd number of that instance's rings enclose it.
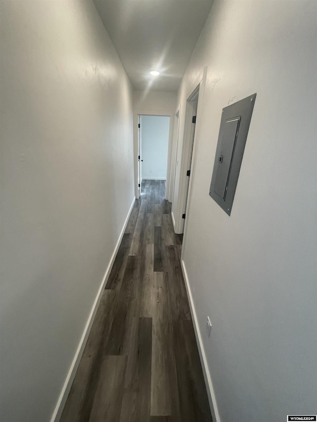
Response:
[[[211,382],[211,375],[210,375],[209,368],[208,368],[207,358],[206,358],[206,354],[205,354],[205,349],[204,349],[204,345],[203,345],[203,341],[202,341],[200,328],[199,328],[199,325],[198,325],[197,315],[196,315],[195,306],[194,306],[194,302],[193,302],[192,291],[191,291],[191,288],[190,288],[190,285],[189,285],[184,260],[181,260],[181,266],[182,266],[183,276],[184,276],[184,280],[185,280],[187,295],[188,295],[188,299],[189,299],[190,311],[191,311],[192,319],[193,319],[193,323],[194,323],[194,330],[195,330],[195,335],[196,335],[196,340],[197,340],[197,345],[198,345],[199,356],[200,356],[200,360],[201,360],[201,363],[202,363],[205,383],[206,383],[206,387],[207,387],[207,394],[208,394],[209,404],[210,404],[210,408],[211,408],[212,421],[213,422],[220,422],[217,403],[216,403],[216,399],[215,399],[214,391],[213,391],[213,386],[212,386],[212,382]]]

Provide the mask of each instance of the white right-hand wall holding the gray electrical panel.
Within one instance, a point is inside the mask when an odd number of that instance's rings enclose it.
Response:
[[[316,1],[215,1],[178,92],[208,66],[182,259],[222,422],[316,414],[316,19]],[[229,217],[209,196],[221,109],[253,93]]]

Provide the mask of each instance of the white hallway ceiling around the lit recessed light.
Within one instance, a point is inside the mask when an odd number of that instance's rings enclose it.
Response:
[[[213,0],[94,1],[133,88],[176,91]]]

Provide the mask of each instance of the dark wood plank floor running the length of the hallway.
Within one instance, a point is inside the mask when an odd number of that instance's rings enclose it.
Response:
[[[211,422],[164,195],[143,181],[61,422]]]

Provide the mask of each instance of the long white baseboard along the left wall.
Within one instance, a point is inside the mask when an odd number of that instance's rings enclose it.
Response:
[[[109,265],[108,265],[108,267],[106,269],[105,276],[104,276],[103,281],[101,282],[101,285],[99,287],[99,290],[98,290],[98,293],[97,293],[95,302],[93,304],[93,307],[91,309],[89,318],[88,318],[87,323],[86,323],[86,327],[85,327],[84,332],[83,332],[83,335],[82,335],[82,337],[80,339],[80,342],[79,342],[79,345],[77,347],[77,350],[76,350],[74,359],[72,361],[72,364],[71,364],[70,369],[68,371],[68,374],[66,376],[66,379],[65,379],[63,388],[62,388],[61,393],[59,395],[57,404],[55,406],[55,409],[54,409],[54,412],[53,412],[53,416],[51,418],[51,422],[58,422],[60,420],[60,417],[61,417],[61,414],[63,412],[63,409],[64,409],[64,406],[65,406],[65,403],[66,403],[66,400],[67,400],[67,397],[68,397],[70,388],[72,386],[73,380],[74,380],[75,375],[76,375],[76,371],[77,371],[78,366],[79,366],[80,359],[81,359],[82,354],[84,352],[84,349],[85,349],[85,346],[86,346],[86,343],[87,343],[87,339],[88,339],[88,336],[89,336],[91,327],[93,325],[94,318],[95,318],[96,313],[97,313],[97,309],[98,309],[99,303],[101,301],[101,298],[102,298],[104,289],[106,287],[106,282],[108,281],[108,278],[109,278],[109,275],[110,275],[110,272],[111,272],[111,269],[112,269],[112,266],[113,266],[113,263],[114,263],[116,254],[118,252],[118,249],[119,249],[119,246],[120,246],[120,243],[121,243],[121,240],[122,240],[122,237],[123,237],[125,228],[126,228],[126,226],[128,224],[128,220],[129,220],[131,211],[133,209],[134,203],[135,203],[135,197],[133,198],[133,201],[132,201],[131,207],[129,209],[127,218],[125,219],[125,222],[123,224],[123,227],[122,227],[121,233],[119,235],[118,241],[117,241],[117,243],[115,245],[113,254],[111,256]]]

